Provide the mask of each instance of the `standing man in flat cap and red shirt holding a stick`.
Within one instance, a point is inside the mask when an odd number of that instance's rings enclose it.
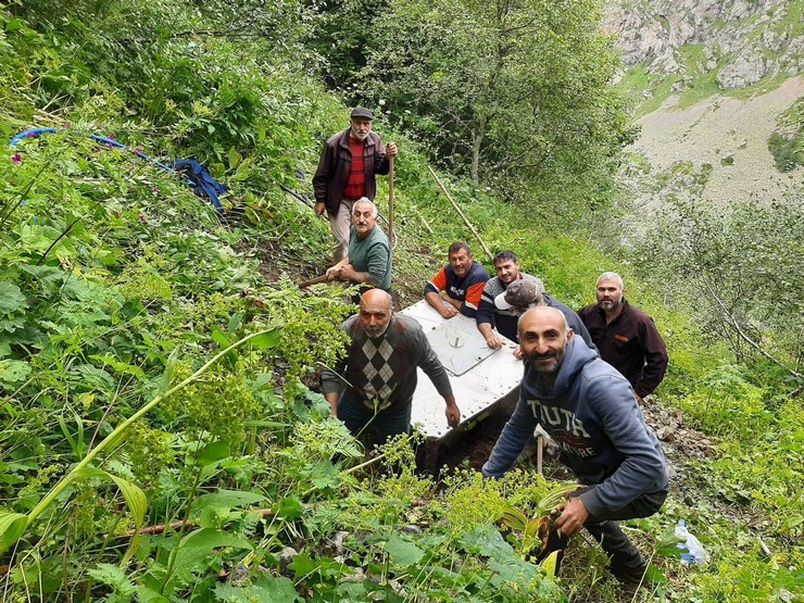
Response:
[[[377,194],[376,174],[388,174],[388,158],[397,155],[397,145],[382,146],[372,131],[374,113],[357,106],[352,111],[350,127],[332,136],[324,146],[318,168],[313,176],[315,213],[329,216],[335,239],[335,262],[347,255],[352,205]]]

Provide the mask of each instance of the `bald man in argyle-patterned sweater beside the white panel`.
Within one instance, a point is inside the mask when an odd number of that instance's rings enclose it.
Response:
[[[375,441],[382,443],[410,431],[418,367],[443,397],[448,425],[461,423],[444,367],[418,323],[393,315],[391,296],[380,289],[363,293],[360,313],[347,318],[343,330],[351,339],[347,355],[334,370],[324,370],[322,391],[352,434],[370,424]]]

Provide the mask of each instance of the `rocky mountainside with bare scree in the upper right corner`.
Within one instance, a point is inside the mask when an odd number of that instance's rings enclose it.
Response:
[[[604,26],[640,103],[625,174],[638,210],[668,194],[723,204],[802,193],[804,168],[779,172],[768,138],[803,136],[800,118],[780,117],[804,98],[804,1],[626,0]]]

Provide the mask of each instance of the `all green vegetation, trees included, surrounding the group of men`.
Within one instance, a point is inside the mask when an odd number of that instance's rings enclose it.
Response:
[[[455,468],[435,483],[407,442],[367,460],[328,416],[317,375],[353,309],[336,286],[296,286],[326,268],[329,233],[280,185],[310,190],[359,101],[387,108],[376,129],[401,148],[404,302],[450,242],[474,243],[432,165],[483,240],[551,293],[578,307],[617,269],[665,335],[657,398],[716,451],[674,457],[663,511],[629,523],[654,566],[637,600],[804,596],[802,209],[679,202],[620,247],[614,175],[636,131],[607,85],[600,7],[429,4],[2,9],[0,133],[58,130],[0,161],[4,601],[619,600],[599,548],[576,539],[556,580],[511,522],[542,517],[563,482],[523,463],[495,482]],[[367,40],[355,15],[386,37]],[[136,149],[204,162],[230,188],[226,211]],[[679,518],[706,566],[671,553]]]

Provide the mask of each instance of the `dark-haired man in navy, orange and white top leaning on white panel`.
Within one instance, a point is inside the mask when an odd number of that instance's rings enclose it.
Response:
[[[489,273],[472,259],[465,242],[452,243],[448,257],[450,263],[425,285],[425,299],[444,318],[458,314],[474,318]]]

